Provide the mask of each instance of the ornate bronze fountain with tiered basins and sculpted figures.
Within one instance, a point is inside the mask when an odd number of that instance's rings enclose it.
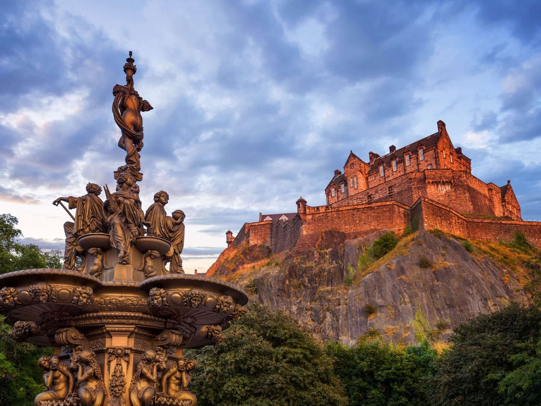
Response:
[[[102,201],[102,188],[89,183],[87,194],[53,202],[76,209],[64,224],[64,269],[0,275],[11,338],[55,349],[39,360],[47,390],[36,406],[195,406],[188,384],[196,362],[182,349],[219,343],[248,302],[235,285],[184,274],[184,213],[167,215],[166,192],[142,210],[141,112],[152,107],[134,89],[129,54],[126,85],[113,89],[118,146],[126,150],[116,191],[105,185]]]

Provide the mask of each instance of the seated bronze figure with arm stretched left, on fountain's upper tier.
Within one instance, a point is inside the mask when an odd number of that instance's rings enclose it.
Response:
[[[77,252],[77,239],[83,234],[103,233],[105,232],[105,214],[103,213],[103,201],[98,198],[101,194],[101,187],[89,183],[87,185],[87,194],[81,197],[69,196],[67,198],[58,198],[52,204],[58,206],[61,201],[68,203],[68,208],[75,208],[75,222],[66,221],[64,223],[64,233],[66,242],[64,248],[64,269],[73,270],[75,267],[75,257]]]

